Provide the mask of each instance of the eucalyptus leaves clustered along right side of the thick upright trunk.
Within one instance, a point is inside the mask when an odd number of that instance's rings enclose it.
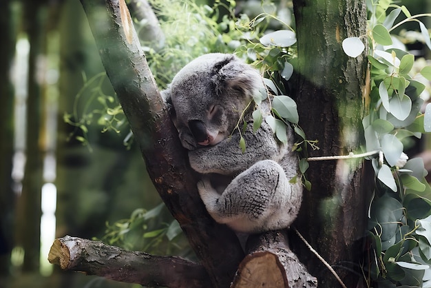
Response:
[[[364,148],[379,151],[379,156],[372,159],[376,185],[369,209],[371,250],[364,276],[373,287],[431,287],[431,187],[425,181],[422,159],[407,161],[403,153],[408,138],[430,132],[430,107],[425,114],[420,112],[427,83],[419,79],[429,79],[431,68],[416,72],[414,56],[395,45],[399,38],[391,34],[403,23],[415,21],[423,43],[431,49],[430,34],[417,19],[431,14],[412,16],[405,6],[390,0],[368,0],[367,7],[371,90],[369,113],[363,120]],[[405,19],[396,23],[401,12]],[[348,56],[364,51],[362,46],[357,49],[362,37],[344,40]]]

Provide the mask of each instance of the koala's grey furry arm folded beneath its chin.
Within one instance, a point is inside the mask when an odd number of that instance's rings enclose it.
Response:
[[[199,173],[238,174],[257,161],[276,160],[283,145],[277,143],[268,124],[253,133],[253,123],[249,123],[242,134],[246,141],[246,150],[240,148],[240,134],[235,131],[229,138],[215,146],[202,147],[189,152],[191,167]]]

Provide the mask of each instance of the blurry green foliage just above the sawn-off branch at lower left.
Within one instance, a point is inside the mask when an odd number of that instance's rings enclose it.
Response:
[[[107,223],[106,234],[101,240],[129,250],[193,258],[180,225],[168,214],[163,203],[149,211],[136,209],[128,219],[111,225]]]

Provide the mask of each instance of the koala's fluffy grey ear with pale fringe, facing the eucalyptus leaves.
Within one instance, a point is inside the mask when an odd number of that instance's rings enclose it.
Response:
[[[227,55],[213,66],[212,81],[218,93],[233,90],[245,96],[253,96],[262,85],[260,74],[233,55]]]

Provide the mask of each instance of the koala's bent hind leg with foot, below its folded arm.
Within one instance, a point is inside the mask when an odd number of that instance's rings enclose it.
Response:
[[[221,195],[206,178],[198,183],[198,190],[215,221],[243,233],[288,227],[302,200],[301,184],[289,183],[282,167],[271,160],[246,169]]]

